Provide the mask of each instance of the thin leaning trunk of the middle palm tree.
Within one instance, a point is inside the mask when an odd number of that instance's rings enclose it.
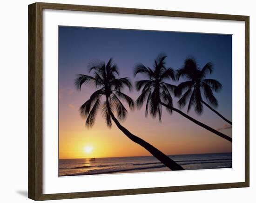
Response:
[[[187,119],[189,119],[190,121],[194,122],[195,124],[197,124],[197,125],[199,125],[199,126],[205,128],[206,130],[209,130],[210,132],[215,133],[216,135],[218,135],[218,136],[220,136],[220,137],[222,137],[222,138],[224,138],[224,139],[229,140],[230,142],[232,142],[232,138],[230,138],[228,135],[225,135],[225,134],[223,134],[223,133],[221,133],[221,132],[219,132],[219,131],[217,131],[217,130],[215,130],[215,129],[213,129],[213,128],[211,128],[211,127],[209,127],[209,126],[207,126],[207,125],[205,125],[205,124],[203,124],[203,123],[201,123],[200,121],[195,120],[194,118],[192,118],[192,117],[190,117],[189,115],[183,113],[181,110],[179,110],[179,109],[177,109],[177,108],[169,107],[167,104],[165,104],[165,103],[163,103],[163,102],[161,102],[161,104],[162,104],[162,106],[164,106],[164,107],[166,107],[166,108],[169,108],[169,109],[172,109],[173,111],[175,111],[175,112],[181,114],[181,115],[184,116],[185,118],[187,118]]]

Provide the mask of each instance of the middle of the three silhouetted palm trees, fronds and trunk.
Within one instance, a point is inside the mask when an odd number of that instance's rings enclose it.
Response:
[[[149,113],[152,115],[152,117],[155,118],[158,115],[158,119],[161,121],[162,106],[164,106],[170,114],[175,111],[176,113],[181,114],[195,124],[232,142],[232,138],[229,136],[203,124],[200,121],[195,120],[188,114],[185,114],[181,110],[173,107],[173,99],[171,93],[174,93],[176,86],[165,81],[167,79],[175,80],[175,74],[173,69],[166,68],[165,58],[166,56],[159,55],[154,61],[153,69],[145,67],[142,63],[138,63],[135,66],[134,76],[140,73],[147,77],[146,80],[139,80],[135,82],[136,90],[140,91],[142,89],[141,95],[136,100],[137,107],[141,108],[144,101],[146,101],[145,116],[148,116],[149,108]]]

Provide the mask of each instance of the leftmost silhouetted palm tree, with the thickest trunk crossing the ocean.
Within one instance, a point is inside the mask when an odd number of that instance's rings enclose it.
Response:
[[[122,89],[125,87],[131,90],[132,84],[128,77],[117,77],[119,76],[119,70],[117,65],[112,62],[112,59],[110,59],[107,64],[104,62],[91,63],[89,66],[89,72],[91,71],[93,71],[93,76],[79,74],[75,79],[75,86],[78,90],[81,90],[82,84],[93,84],[96,88],[96,91],[80,108],[81,116],[86,118],[86,126],[93,127],[97,111],[101,108],[101,113],[104,116],[108,127],[111,127],[112,121],[114,121],[116,126],[130,140],[144,147],[169,169],[173,171],[184,170],[182,166],[175,163],[175,161],[170,159],[160,150],[130,133],[118,121],[124,120],[128,113],[121,101],[127,102],[128,107],[131,110],[134,108],[134,101],[122,92]],[[117,115],[118,119],[115,117],[114,113]]]

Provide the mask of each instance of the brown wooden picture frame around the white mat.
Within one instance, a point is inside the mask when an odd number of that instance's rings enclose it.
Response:
[[[127,190],[105,190],[61,194],[43,194],[43,134],[42,134],[42,11],[43,9],[123,13],[198,19],[220,19],[245,22],[245,181],[239,183],[201,184]],[[189,190],[212,190],[249,187],[249,16],[212,13],[191,13],[134,8],[81,6],[34,3],[28,6],[28,197],[33,200],[53,200],[81,197],[103,197],[162,193]]]

